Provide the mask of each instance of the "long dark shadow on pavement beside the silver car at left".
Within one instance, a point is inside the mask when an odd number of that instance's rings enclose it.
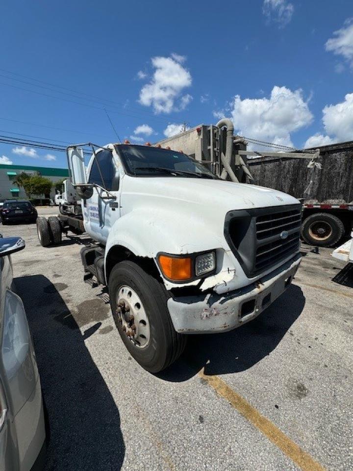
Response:
[[[84,344],[100,323],[82,336],[48,278],[24,276],[15,283],[25,304],[49,412],[45,471],[120,470],[125,445],[119,411]]]

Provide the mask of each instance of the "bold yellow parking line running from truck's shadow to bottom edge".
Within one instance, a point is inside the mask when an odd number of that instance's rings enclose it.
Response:
[[[244,397],[233,391],[219,376],[207,376],[203,369],[199,372],[199,376],[207,381],[220,396],[224,397],[234,409],[249,420],[299,468],[303,471],[325,471],[325,468],[279,430],[271,420],[262,416]]]

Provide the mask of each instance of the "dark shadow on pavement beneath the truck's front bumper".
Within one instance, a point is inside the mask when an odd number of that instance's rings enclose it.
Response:
[[[291,285],[254,320],[224,334],[190,335],[181,358],[158,376],[185,381],[202,367],[207,375],[237,373],[251,368],[274,350],[302,313],[305,298]]]

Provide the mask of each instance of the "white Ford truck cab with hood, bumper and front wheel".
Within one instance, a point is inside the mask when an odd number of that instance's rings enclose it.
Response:
[[[173,363],[186,334],[239,327],[290,285],[301,261],[292,196],[151,145],[94,147],[87,169],[71,146],[68,161],[94,241],[83,265],[108,286],[119,334],[148,371]]]

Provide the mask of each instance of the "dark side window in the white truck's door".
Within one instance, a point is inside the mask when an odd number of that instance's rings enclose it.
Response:
[[[104,181],[102,181],[101,177],[103,177]],[[107,190],[114,191],[119,189],[119,175],[117,175],[110,150],[103,150],[97,153],[91,167],[88,183],[96,183]]]

